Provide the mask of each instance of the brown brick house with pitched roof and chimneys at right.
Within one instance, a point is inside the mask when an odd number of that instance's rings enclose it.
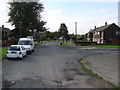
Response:
[[[88,41],[95,41],[97,44],[120,45],[120,27],[115,23],[105,23],[104,26],[96,27],[86,34]]]

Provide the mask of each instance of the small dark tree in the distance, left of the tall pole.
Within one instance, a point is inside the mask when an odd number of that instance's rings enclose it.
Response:
[[[68,36],[68,29],[65,23],[61,23],[59,32],[60,35],[63,36],[63,43],[64,43],[64,39],[67,40],[67,36]]]

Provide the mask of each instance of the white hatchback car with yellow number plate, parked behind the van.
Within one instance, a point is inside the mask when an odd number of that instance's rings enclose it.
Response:
[[[20,58],[26,56],[26,49],[21,45],[11,45],[7,51],[7,58]]]

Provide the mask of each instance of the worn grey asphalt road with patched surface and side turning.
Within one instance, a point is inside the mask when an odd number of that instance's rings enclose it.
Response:
[[[105,81],[88,75],[81,58],[115,53],[114,50],[84,49],[47,42],[23,60],[2,62],[3,87],[9,88],[111,88]],[[94,82],[94,83],[91,83]]]

